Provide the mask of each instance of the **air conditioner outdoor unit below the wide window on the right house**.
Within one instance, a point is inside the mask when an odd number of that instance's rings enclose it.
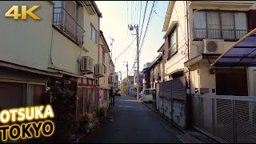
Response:
[[[204,54],[222,54],[224,52],[224,39],[203,39]]]

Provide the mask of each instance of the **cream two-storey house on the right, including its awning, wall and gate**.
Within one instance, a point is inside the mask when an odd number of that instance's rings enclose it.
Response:
[[[160,113],[219,142],[256,142],[245,128],[255,125],[255,10],[255,1],[169,2]]]

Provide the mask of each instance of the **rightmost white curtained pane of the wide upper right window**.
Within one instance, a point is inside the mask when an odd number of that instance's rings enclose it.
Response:
[[[236,29],[236,38],[242,38],[247,34],[247,18],[246,13],[236,12],[234,13],[234,22]]]

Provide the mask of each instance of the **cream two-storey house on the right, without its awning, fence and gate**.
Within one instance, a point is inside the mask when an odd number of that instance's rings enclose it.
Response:
[[[253,1],[169,2],[162,29],[165,80],[188,77],[191,94],[253,95],[248,75],[254,67],[210,64],[254,28],[254,9]]]

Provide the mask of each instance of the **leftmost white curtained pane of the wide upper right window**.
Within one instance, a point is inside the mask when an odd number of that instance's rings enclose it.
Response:
[[[206,12],[196,11],[193,15],[194,38],[206,38]],[[202,29],[202,30],[197,30]]]

